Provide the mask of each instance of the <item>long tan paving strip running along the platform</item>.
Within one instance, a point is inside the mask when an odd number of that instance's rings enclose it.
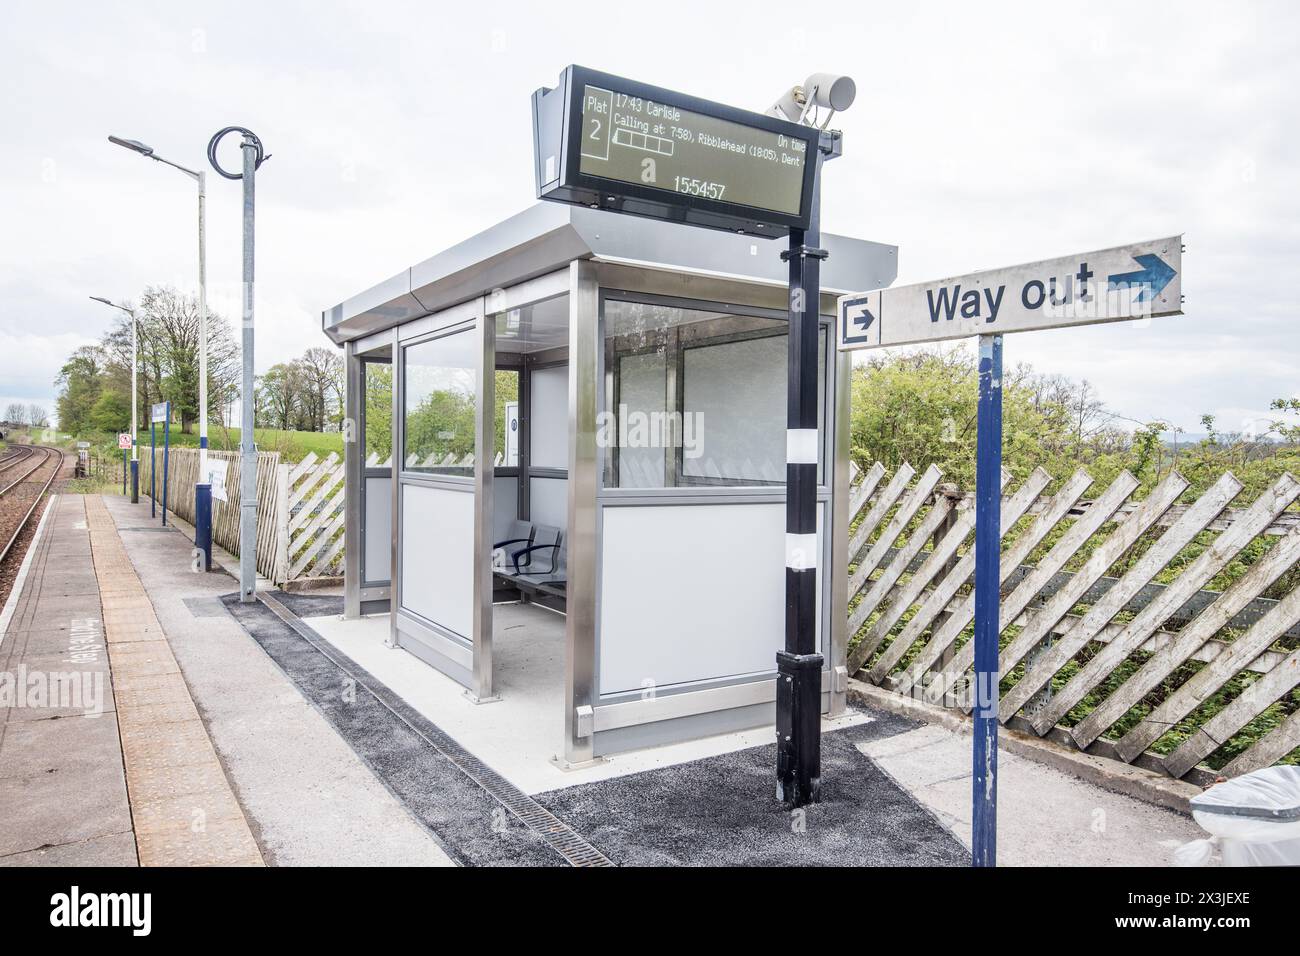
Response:
[[[140,866],[263,866],[172,645],[104,501],[86,497]]]

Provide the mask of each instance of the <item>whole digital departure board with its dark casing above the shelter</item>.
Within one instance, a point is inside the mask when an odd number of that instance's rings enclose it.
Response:
[[[755,235],[806,228],[818,130],[569,66],[533,95],[537,195]]]

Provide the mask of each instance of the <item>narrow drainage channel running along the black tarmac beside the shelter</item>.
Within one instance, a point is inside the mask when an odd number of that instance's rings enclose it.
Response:
[[[429,721],[420,721],[420,726],[407,718],[399,708],[386,700],[386,695],[380,693],[368,680],[358,676],[339,654],[321,639],[315,631],[304,624],[296,614],[285,607],[277,598],[265,592],[257,593],[257,600],[274,614],[294,633],[312,645],[330,663],[347,674],[360,687],[365,688],[380,705],[393,717],[404,723],[422,739],[429,747],[450,761],[462,774],[473,780],[484,792],[497,803],[510,810],[524,826],[536,832],[551,849],[559,853],[571,866],[612,866],[614,862],[599,849],[588,843],[568,823],[533,800],[528,793],[512,784],[504,777],[489,767],[469,750],[447,736],[442,730]]]

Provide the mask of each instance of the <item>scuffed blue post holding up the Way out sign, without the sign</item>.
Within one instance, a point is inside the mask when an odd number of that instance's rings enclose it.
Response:
[[[997,865],[997,657],[1002,538],[1002,337],[979,337],[975,467],[975,736],[971,865]]]

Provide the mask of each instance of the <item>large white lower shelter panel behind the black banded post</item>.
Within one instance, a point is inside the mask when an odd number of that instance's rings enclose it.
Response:
[[[602,518],[602,696],[776,670],[785,645],[784,505],[619,506]]]

